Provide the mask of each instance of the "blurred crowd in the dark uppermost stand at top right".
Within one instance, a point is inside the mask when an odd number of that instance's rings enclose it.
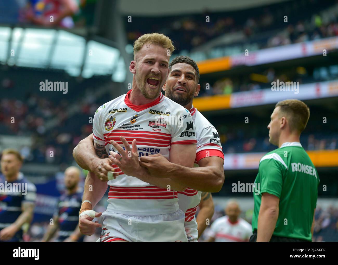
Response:
[[[323,21],[319,14],[334,4],[335,1],[289,1],[288,4],[276,3],[240,12],[214,13],[204,10],[198,15],[161,16],[151,20],[133,17],[136,23],[125,25],[130,44],[149,31],[161,32],[175,41],[174,46],[178,52],[191,51],[224,34],[237,32],[243,32],[246,43],[254,42],[259,48],[266,48],[337,36],[337,17]],[[284,21],[285,15],[288,16],[287,21]],[[142,23],[138,23],[141,20]],[[266,32],[270,34],[262,35]]]

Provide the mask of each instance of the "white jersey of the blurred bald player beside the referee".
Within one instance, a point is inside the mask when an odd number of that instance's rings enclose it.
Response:
[[[249,241],[251,235],[251,224],[242,218],[232,223],[228,216],[216,219],[208,231],[208,236],[214,237],[215,242],[245,242]]]

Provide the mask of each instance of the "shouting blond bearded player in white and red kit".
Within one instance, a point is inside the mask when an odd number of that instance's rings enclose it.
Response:
[[[176,191],[185,190],[186,186],[170,178],[164,179],[165,184],[163,179],[153,181],[152,185],[146,182],[144,179],[150,174],[140,166],[140,151],[135,145],[137,140],[140,147],[161,153],[172,163],[193,167],[196,137],[192,117],[186,115],[184,107],[161,93],[173,50],[171,40],[163,34],[141,36],[135,41],[134,61],[129,66],[134,74],[132,90],[105,103],[95,113],[93,136],[96,154],[100,158],[107,158],[110,151],[122,155],[119,163],[114,165],[116,178],[107,183],[110,186],[107,210],[102,216],[101,213],[95,214],[102,219],[100,240],[103,242],[187,241],[185,214],[179,210]],[[151,109],[181,117],[184,124],[191,124],[191,134],[181,137],[185,126],[152,120]],[[161,129],[155,130],[151,124],[159,125]],[[117,146],[113,147],[111,140],[115,140]],[[123,145],[127,146],[126,150],[122,149]],[[132,156],[129,156],[129,145],[132,145]],[[107,184],[102,185],[98,178],[86,179],[79,216],[79,228],[83,234],[90,235],[96,226],[100,226],[91,222],[91,210],[101,199]],[[89,185],[93,191],[88,189]]]

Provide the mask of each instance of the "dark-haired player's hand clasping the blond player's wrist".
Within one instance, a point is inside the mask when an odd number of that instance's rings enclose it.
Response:
[[[170,162],[162,154],[141,156],[140,165],[146,167],[154,177],[168,177],[170,175]]]

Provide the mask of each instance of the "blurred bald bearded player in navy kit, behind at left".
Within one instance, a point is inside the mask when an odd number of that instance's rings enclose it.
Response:
[[[80,170],[69,167],[65,170],[65,194],[57,202],[53,224],[49,224],[42,242],[48,242],[59,229],[57,241],[82,242],[83,235],[78,226],[82,193],[78,191]]]

